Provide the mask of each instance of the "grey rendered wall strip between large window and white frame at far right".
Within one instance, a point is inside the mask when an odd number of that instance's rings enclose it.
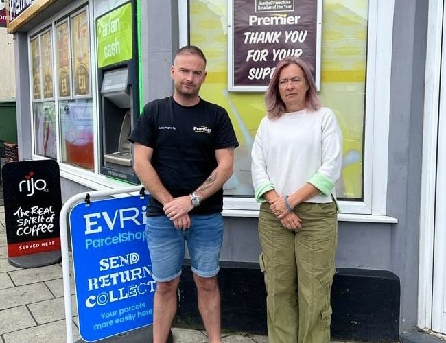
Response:
[[[392,49],[388,214],[390,270],[401,280],[400,331],[416,324],[428,1],[397,0]]]

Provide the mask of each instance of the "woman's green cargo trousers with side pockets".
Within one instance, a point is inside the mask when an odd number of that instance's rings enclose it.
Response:
[[[270,343],[329,343],[330,292],[338,242],[335,202],[302,203],[297,233],[261,204],[260,268],[266,285]]]

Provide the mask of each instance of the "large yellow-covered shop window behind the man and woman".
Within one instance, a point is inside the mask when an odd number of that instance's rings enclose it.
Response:
[[[249,3],[252,3],[253,16],[262,16],[259,10],[266,9],[268,12],[271,5],[270,1],[250,0]],[[276,3],[292,8],[297,1]],[[320,68],[320,73],[316,73],[319,75],[319,80],[316,80],[320,85],[319,97],[323,106],[336,113],[344,138],[342,177],[336,185],[338,199],[342,200],[341,209],[344,213],[384,215],[386,192],[376,192],[374,201],[372,194],[373,189],[386,187],[388,80],[376,78],[375,75],[379,68],[380,73],[384,71],[379,64],[390,64],[390,54],[383,56],[382,51],[385,51],[385,47],[388,49],[386,51],[391,51],[391,34],[379,36],[379,32],[382,29],[390,29],[391,32],[393,1],[381,1],[379,4],[377,0],[307,3],[307,7],[314,8],[299,15],[305,16],[317,10],[318,18],[322,17],[322,28],[314,48],[317,55],[316,69]],[[272,58],[274,39],[266,47],[262,47],[262,40],[259,43],[249,39],[235,40],[237,32],[232,32],[232,27],[236,26],[233,19],[236,10],[234,6],[237,4],[246,8],[246,1],[242,0],[189,0],[188,5],[180,6],[180,17],[188,19],[188,22],[180,22],[189,27],[189,30],[180,29],[180,32],[187,32],[180,37],[180,45],[189,43],[203,49],[207,56],[208,75],[200,94],[204,99],[228,110],[241,143],[235,150],[234,175],[224,186],[225,208],[256,209],[257,205],[252,200],[254,190],[250,175],[250,149],[259,122],[266,114],[263,91],[252,91],[249,88],[237,91],[233,84],[229,84],[235,78],[234,75],[233,78],[228,78],[228,75],[231,76],[233,72],[231,66],[235,54],[239,54],[242,49],[270,49],[268,58]],[[282,9],[283,6],[281,9],[270,8],[270,15],[292,15]],[[287,29],[290,31],[292,28],[283,28],[283,38]],[[276,41],[281,39],[277,37]],[[302,39],[304,37],[301,35]],[[244,43],[252,44],[252,47],[242,47]],[[296,53],[298,45],[299,42],[296,42],[296,49],[287,51]],[[264,61],[267,59],[265,56]],[[250,61],[253,63],[252,58],[244,63],[249,64]],[[375,91],[377,88],[380,91]],[[381,97],[382,94],[384,97]],[[382,123],[376,124],[379,120],[383,120]],[[374,141],[374,132],[377,130],[380,130],[380,143]]]

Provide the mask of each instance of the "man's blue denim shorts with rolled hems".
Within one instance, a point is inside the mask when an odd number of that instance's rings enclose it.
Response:
[[[145,236],[155,281],[166,282],[180,276],[185,257],[185,241],[191,258],[192,272],[202,277],[218,274],[223,241],[222,214],[190,217],[191,228],[188,230],[177,230],[165,215],[147,217]]]

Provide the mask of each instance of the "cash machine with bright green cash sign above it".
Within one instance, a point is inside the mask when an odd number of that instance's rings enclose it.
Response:
[[[101,174],[138,185],[132,167],[133,145],[128,141],[139,117],[135,13],[134,1],[130,1],[99,17],[96,26]]]

